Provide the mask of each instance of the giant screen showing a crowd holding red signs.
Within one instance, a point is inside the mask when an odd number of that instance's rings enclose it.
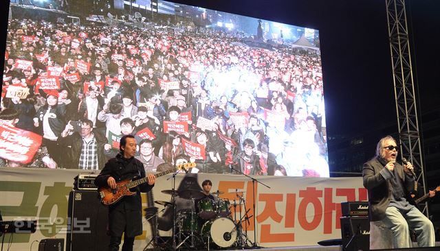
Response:
[[[1,165],[329,177],[316,29],[166,1],[10,3]],[[160,165],[159,165],[160,164]]]

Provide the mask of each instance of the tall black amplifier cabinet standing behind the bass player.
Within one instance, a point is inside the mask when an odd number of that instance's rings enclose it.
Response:
[[[109,248],[109,209],[101,204],[98,191],[72,190],[69,193],[67,251],[101,251]]]

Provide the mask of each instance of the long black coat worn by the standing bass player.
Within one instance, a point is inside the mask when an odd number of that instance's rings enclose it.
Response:
[[[116,182],[122,180],[137,180],[145,177],[144,165],[135,158],[124,158],[118,154],[111,158],[96,177],[98,187],[107,187],[107,179],[113,177]],[[127,237],[142,235],[142,202],[140,193],[146,193],[153,188],[148,183],[141,184],[133,189],[136,194],[124,196],[120,201],[109,206],[109,235],[121,237],[125,232]]]

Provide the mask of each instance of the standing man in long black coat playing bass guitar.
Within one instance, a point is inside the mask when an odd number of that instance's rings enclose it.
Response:
[[[109,159],[101,173],[96,177],[98,187],[116,188],[116,183],[123,180],[137,180],[146,177],[144,165],[135,159],[136,140],[133,135],[124,135],[120,139],[120,153]],[[133,250],[135,236],[142,234],[142,202],[140,193],[148,192],[154,187],[155,176],[148,174],[148,182],[133,188],[136,194],[124,196],[120,201],[109,206],[108,235],[110,251],[119,250],[124,232],[123,251]]]

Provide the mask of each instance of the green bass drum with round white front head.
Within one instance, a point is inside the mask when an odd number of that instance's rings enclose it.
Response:
[[[201,227],[201,237],[209,248],[229,248],[236,241],[235,224],[227,217],[212,219]]]

